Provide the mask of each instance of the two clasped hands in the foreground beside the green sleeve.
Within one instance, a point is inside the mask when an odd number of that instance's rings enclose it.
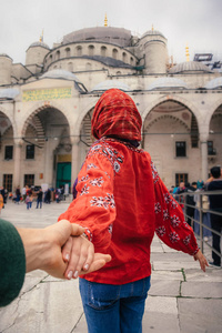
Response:
[[[26,252],[27,272],[43,270],[59,279],[78,278],[101,269],[109,254],[94,253],[84,228],[67,220],[44,229],[18,229]]]

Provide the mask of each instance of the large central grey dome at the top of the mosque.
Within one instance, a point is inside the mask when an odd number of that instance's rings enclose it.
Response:
[[[73,31],[63,37],[63,44],[80,41],[103,41],[120,47],[129,47],[131,42],[130,30],[112,27],[85,28]]]

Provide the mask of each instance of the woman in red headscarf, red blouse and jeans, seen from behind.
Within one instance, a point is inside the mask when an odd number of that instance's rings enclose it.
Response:
[[[84,226],[94,251],[112,256],[100,271],[80,279],[90,333],[142,332],[154,232],[169,246],[198,259],[202,270],[208,264],[149,153],[138,149],[141,127],[128,94],[118,89],[102,94],[92,117],[99,141],[79,173],[77,199],[60,216]],[[65,274],[77,276],[72,262]]]

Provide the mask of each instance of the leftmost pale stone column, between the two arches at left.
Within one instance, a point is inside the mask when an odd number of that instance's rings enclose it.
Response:
[[[13,172],[13,183],[12,190],[17,189],[19,185],[20,189],[23,186],[23,179],[21,176],[21,149],[22,149],[22,140],[14,139],[14,172]]]

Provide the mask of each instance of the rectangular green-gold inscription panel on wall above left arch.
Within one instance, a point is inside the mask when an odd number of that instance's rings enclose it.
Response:
[[[60,99],[70,99],[70,98],[71,98],[71,88],[26,90],[23,91],[22,94],[23,102],[60,100]]]

